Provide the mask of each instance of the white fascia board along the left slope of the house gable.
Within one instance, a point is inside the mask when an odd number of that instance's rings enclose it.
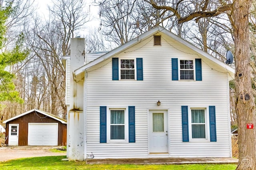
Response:
[[[80,73],[82,73],[84,70],[86,70],[87,68],[90,68],[102,61],[105,61],[106,59],[109,59],[110,57],[112,57],[113,55],[117,55],[119,53],[121,53],[122,51],[133,47],[134,45],[140,43],[141,41],[143,41],[144,39],[147,39],[148,37],[154,35],[155,33],[157,33],[159,31],[159,27],[155,27],[150,29],[149,31],[143,33],[142,35],[139,35],[138,37],[128,41],[127,43],[113,49],[112,51],[102,55],[101,57],[95,59],[94,61],[91,61],[88,64],[85,64],[84,66],[78,68],[75,70],[75,75],[78,75]]]

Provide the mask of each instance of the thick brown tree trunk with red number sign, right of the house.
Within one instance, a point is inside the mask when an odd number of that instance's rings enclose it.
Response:
[[[250,43],[248,15],[252,0],[235,0],[234,41],[235,41],[235,88],[236,112],[238,115],[238,149],[237,170],[256,169],[256,127],[247,129],[247,124],[256,125],[255,103],[252,95],[250,75]]]

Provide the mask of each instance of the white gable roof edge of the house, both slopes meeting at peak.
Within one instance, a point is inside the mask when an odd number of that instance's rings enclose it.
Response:
[[[159,33],[159,32],[164,33],[165,35],[168,35],[170,38],[174,39],[175,41],[178,41],[179,43],[182,43],[183,45],[185,45],[189,49],[192,49],[196,53],[202,55],[204,57],[204,59],[203,59],[204,62],[206,62],[207,64],[215,64],[215,65],[219,66],[220,68],[222,68],[221,71],[228,72],[230,77],[232,77],[232,79],[234,79],[234,73],[235,73],[234,68],[232,68],[231,66],[223,63],[222,61],[216,59],[215,57],[206,53],[202,49],[199,49],[198,47],[192,45],[188,41],[178,37],[174,33],[170,32],[167,29],[165,29],[163,27],[160,27],[160,26],[157,26],[157,27],[154,27],[154,28],[150,29],[149,31],[143,33],[142,35],[139,35],[138,37],[128,41],[127,43],[117,47],[116,49],[113,49],[112,51],[102,55],[101,57],[98,57],[97,59],[91,61],[90,63],[87,63],[84,66],[76,69],[74,71],[74,74],[75,75],[81,74],[86,69],[88,69],[92,66],[95,66],[96,64],[101,63],[102,61],[105,61],[105,60],[111,58],[112,56],[117,55],[117,54],[125,51],[126,49],[129,49],[129,48],[133,47],[134,45],[137,45],[138,43],[144,41],[145,39],[148,39],[152,35],[154,35],[156,33]]]

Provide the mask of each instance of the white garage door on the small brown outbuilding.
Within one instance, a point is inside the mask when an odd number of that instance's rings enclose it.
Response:
[[[28,145],[57,146],[58,123],[28,123]]]

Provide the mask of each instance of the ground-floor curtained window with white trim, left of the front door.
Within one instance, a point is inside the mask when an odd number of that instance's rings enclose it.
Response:
[[[109,109],[107,115],[107,142],[128,143],[127,109]]]

